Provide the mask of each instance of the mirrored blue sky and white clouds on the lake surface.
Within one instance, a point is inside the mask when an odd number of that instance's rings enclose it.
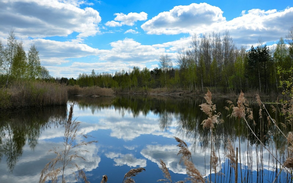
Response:
[[[121,111],[124,111],[123,116]],[[180,137],[176,132],[176,128],[180,127],[173,114],[168,114],[171,122],[168,123],[167,130],[161,129],[159,115],[152,112],[146,116],[140,113],[134,118],[129,110],[116,110],[113,107],[101,110],[80,109],[76,104],[73,118],[76,117],[76,120],[81,122],[78,133],[94,137],[90,137],[89,140],[98,140],[98,143],[82,147],[83,150],[88,151],[81,154],[86,162],[76,160],[76,163],[84,168],[91,182],[99,182],[105,174],[108,175],[109,183],[122,182],[125,173],[137,167],[144,167],[146,171],[134,177],[135,181],[156,182],[163,178],[159,169],[160,159],[166,163],[174,182],[184,180],[186,172],[183,163],[179,164],[180,155],[177,156],[179,148],[176,146],[178,143],[173,136],[177,136],[187,143],[190,141],[199,143],[199,140],[192,139],[193,137]],[[13,174],[6,169],[6,158],[2,158],[0,182],[38,182],[40,171],[49,162],[48,159],[54,158],[52,153],[48,153],[49,149],[54,146],[63,146],[63,133],[64,129],[60,127],[42,131],[34,151],[25,146]],[[80,136],[77,138],[78,142],[82,140]],[[235,146],[237,144],[236,141]],[[247,161],[244,156],[246,146],[245,143],[241,144],[242,161]],[[256,157],[260,159],[260,153],[257,154],[255,148],[252,148],[251,151],[253,162],[256,162]],[[224,152],[224,149],[219,149],[217,152],[217,155],[220,155],[222,168],[225,163]],[[193,151],[193,162],[202,175],[209,174],[209,156],[209,149],[195,148]],[[264,169],[272,171],[272,163],[265,149],[263,159]],[[253,163],[251,168],[257,170],[256,164]],[[65,172],[65,175],[69,182],[74,182],[69,170]]]

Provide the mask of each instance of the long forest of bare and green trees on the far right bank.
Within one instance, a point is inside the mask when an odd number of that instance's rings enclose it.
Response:
[[[214,88],[222,92],[258,90],[278,92],[278,68],[291,68],[293,65],[293,27],[286,38],[282,37],[275,47],[263,44],[247,49],[238,48],[229,34],[194,35],[190,46],[177,53],[176,65],[168,54],[159,58],[159,68],[116,71],[115,74],[103,72],[79,74],[76,79],[65,79],[69,85],[80,87],[111,87],[122,91],[147,88],[204,90]],[[64,81],[63,79],[63,81]]]

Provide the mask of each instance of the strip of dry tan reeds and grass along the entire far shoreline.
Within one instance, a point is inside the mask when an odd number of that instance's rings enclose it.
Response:
[[[224,93],[217,91],[216,88],[206,88],[213,92],[216,97],[236,98],[235,92]],[[201,90],[184,90],[184,89],[165,89],[144,88],[124,91],[121,89],[101,88],[98,86],[79,87],[78,85],[67,86],[56,82],[45,82],[39,80],[33,81],[16,81],[8,87],[0,88],[0,110],[13,108],[26,108],[33,106],[58,106],[65,105],[68,101],[68,95],[81,97],[113,97],[115,94],[144,94],[144,95],[162,95],[162,96],[204,96]],[[260,93],[258,90],[247,91],[247,98],[254,98],[256,95],[262,96],[268,102],[277,102],[279,99],[287,98],[277,93]],[[276,101],[277,100],[277,101]]]

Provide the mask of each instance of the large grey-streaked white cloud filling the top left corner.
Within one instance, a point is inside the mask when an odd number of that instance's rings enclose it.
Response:
[[[88,37],[99,32],[99,12],[91,7],[79,8],[85,1],[60,2],[58,0],[0,1],[0,32],[11,26],[16,36],[51,37],[67,36],[78,32],[77,37]]]

